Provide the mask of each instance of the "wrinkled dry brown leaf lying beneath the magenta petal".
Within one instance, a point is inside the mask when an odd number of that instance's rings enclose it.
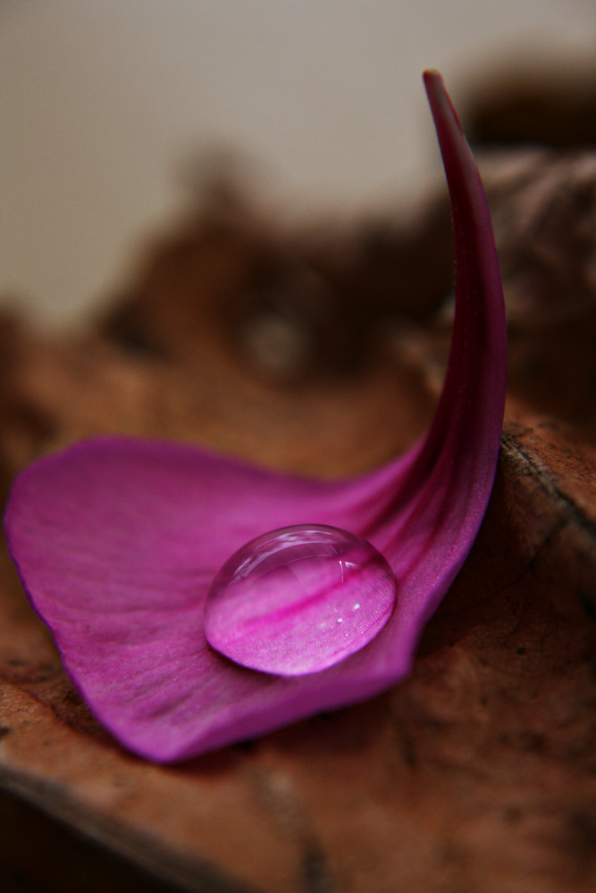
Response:
[[[498,233],[523,188],[502,188]],[[98,335],[63,342],[11,330],[0,388],[5,480],[33,455],[105,430],[340,475],[382,462],[424,428],[439,367],[420,330],[404,330],[397,358],[379,350],[348,377],[316,363],[299,387],[281,387],[263,368],[248,374],[248,358],[231,354],[218,301],[225,294],[234,304],[243,294],[238,283],[253,249],[218,238],[217,251],[198,259],[187,245],[182,262],[172,246],[172,264],[163,262],[153,280],[147,273],[147,315],[137,306],[128,322],[110,323],[119,337],[129,326],[126,349],[122,337],[119,346]],[[517,269],[514,247],[506,270]],[[295,252],[284,246],[282,255],[282,269],[299,282]],[[208,286],[196,305],[182,297],[183,324],[160,303],[175,282],[187,296],[193,283]],[[577,344],[593,362],[586,343]],[[572,349],[541,346],[553,375]],[[97,726],[3,555],[0,784],[11,796],[0,815],[5,841],[14,822],[24,834],[30,822],[31,832],[30,860],[16,846],[0,851],[7,889],[96,889],[85,879],[86,859],[99,890],[119,889],[118,864],[121,880],[144,872],[122,884],[147,890],[594,889],[596,455],[575,436],[586,430],[581,419],[574,435],[528,410],[532,395],[525,407],[508,407],[483,528],[429,623],[412,677],[366,704],[188,764],[147,764]],[[90,844],[68,838],[62,886],[43,846],[63,845],[59,828],[97,844],[91,855]],[[109,862],[119,855],[128,867]]]

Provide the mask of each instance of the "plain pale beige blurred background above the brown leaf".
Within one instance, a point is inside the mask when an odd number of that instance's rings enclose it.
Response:
[[[0,290],[71,321],[210,146],[293,213],[399,199],[438,160],[420,75],[585,63],[593,0],[0,0]]]

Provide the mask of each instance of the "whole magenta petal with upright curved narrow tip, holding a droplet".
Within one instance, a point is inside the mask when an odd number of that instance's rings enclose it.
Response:
[[[88,705],[159,762],[246,739],[390,687],[472,546],[499,449],[506,331],[483,189],[436,73],[425,75],[449,180],[457,313],[429,434],[356,480],[266,472],[191,447],[98,439],[14,482],[5,525],[32,604]],[[395,610],[356,654],[287,678],[209,647],[208,589],[248,540],[296,524],[370,539],[399,584]]]

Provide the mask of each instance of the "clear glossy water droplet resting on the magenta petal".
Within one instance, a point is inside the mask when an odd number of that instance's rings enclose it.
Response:
[[[317,524],[284,527],[223,565],[206,600],[206,638],[253,670],[317,672],[370,642],[396,594],[389,564],[365,539]]]

